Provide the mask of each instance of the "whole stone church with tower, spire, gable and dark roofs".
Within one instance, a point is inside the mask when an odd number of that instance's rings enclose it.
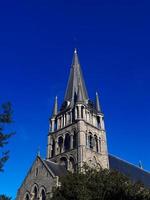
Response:
[[[59,186],[60,176],[84,163],[117,170],[150,187],[149,172],[109,154],[99,95],[96,93],[95,102],[90,100],[75,49],[64,102],[58,108],[57,97],[54,101],[47,156],[37,155],[18,189],[17,200],[45,200],[52,195],[52,188]]]

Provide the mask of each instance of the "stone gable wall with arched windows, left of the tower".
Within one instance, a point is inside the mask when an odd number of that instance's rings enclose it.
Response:
[[[17,200],[46,199],[57,185],[55,176],[38,156],[18,190]]]

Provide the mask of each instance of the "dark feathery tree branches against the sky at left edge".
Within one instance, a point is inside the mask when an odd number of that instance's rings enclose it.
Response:
[[[12,106],[11,103],[2,104],[0,107],[0,172],[3,171],[5,162],[9,158],[9,151],[2,151],[2,148],[8,143],[13,133],[9,133],[8,126],[12,123]],[[7,133],[8,131],[8,133]]]

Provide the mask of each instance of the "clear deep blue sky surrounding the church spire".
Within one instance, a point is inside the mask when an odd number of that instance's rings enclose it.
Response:
[[[148,0],[0,2],[0,103],[12,102],[16,131],[0,194],[15,197],[38,146],[45,157],[74,47],[89,96],[100,93],[109,152],[150,170],[149,10]]]

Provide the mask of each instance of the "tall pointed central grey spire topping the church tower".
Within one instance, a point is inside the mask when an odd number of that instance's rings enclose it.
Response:
[[[77,54],[77,50],[74,50],[72,66],[70,71],[70,76],[67,84],[67,89],[65,93],[65,101],[70,101],[74,103],[74,99],[78,93],[78,86],[80,85],[80,90],[82,93],[83,100],[88,99],[88,93],[86,90],[85,82],[82,75],[81,66],[79,63],[79,58]]]

